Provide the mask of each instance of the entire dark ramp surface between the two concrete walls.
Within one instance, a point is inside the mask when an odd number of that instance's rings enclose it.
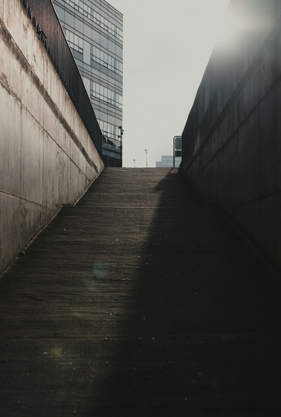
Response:
[[[280,415],[280,281],[175,168],[105,168],[0,299],[5,417]]]

